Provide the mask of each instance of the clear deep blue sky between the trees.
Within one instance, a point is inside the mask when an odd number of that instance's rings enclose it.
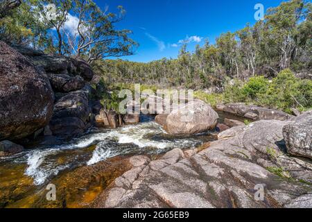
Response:
[[[140,46],[134,56],[123,59],[149,62],[176,58],[179,42],[189,40],[189,51],[205,38],[214,43],[220,33],[237,31],[248,22],[254,24],[254,6],[262,3],[265,10],[276,7],[281,0],[95,0],[101,8],[117,6],[126,10],[125,19],[117,28],[134,33],[132,39]]]

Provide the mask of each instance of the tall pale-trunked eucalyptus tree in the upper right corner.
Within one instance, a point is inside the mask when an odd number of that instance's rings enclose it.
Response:
[[[269,58],[278,62],[278,69],[290,67],[297,58],[299,45],[295,41],[298,25],[311,17],[311,4],[302,0],[281,3],[270,8],[262,29],[263,43],[266,44]],[[311,31],[311,30],[310,30]],[[311,39],[311,36],[310,36]]]

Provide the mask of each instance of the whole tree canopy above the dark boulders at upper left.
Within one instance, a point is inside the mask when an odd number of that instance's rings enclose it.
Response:
[[[135,51],[132,31],[115,26],[124,17],[121,6],[114,14],[92,0],[26,0],[0,20],[0,40],[92,63]]]

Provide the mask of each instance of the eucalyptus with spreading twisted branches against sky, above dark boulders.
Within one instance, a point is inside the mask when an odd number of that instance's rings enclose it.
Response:
[[[85,56],[87,62],[107,57],[130,56],[138,45],[129,35],[130,30],[117,30],[115,24],[125,16],[122,6],[119,12],[101,10],[92,0],[74,0],[73,15],[78,18],[76,33],[67,33],[71,54]]]

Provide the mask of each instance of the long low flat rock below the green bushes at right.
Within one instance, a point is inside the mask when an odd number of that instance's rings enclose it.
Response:
[[[262,108],[257,105],[245,105],[245,103],[230,103],[227,105],[217,105],[218,111],[236,114],[252,120],[288,120],[291,115],[279,110]]]

